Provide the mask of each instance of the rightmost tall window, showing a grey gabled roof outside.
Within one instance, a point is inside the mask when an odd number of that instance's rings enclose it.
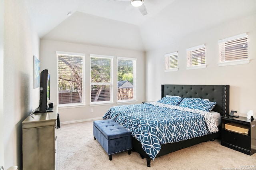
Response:
[[[136,100],[136,59],[117,58],[118,101]]]

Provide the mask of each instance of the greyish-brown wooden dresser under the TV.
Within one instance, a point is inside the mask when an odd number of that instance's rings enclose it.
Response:
[[[53,112],[34,113],[22,122],[24,170],[56,170],[58,106]]]

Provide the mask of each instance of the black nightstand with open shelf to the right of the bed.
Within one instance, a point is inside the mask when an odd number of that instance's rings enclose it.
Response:
[[[251,121],[246,117],[221,117],[222,134],[221,145],[232,148],[239,152],[252,155],[256,152],[256,120]],[[248,129],[248,134],[235,132],[235,130],[228,130],[225,124],[233,124],[233,126],[242,125]]]

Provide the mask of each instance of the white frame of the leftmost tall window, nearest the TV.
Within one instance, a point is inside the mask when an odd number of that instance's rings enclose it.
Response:
[[[59,66],[58,64],[58,60],[59,60],[59,55],[68,55],[68,56],[78,56],[78,57],[82,57],[82,102],[81,103],[67,103],[67,104],[58,104],[58,107],[62,108],[62,107],[84,107],[86,104],[85,101],[85,53],[73,53],[73,52],[64,52],[64,51],[56,51],[56,60],[57,60],[57,68]],[[57,93],[59,93],[59,69],[57,69]],[[59,96],[57,97],[57,103],[59,103]]]

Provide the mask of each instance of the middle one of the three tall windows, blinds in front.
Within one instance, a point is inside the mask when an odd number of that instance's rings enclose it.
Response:
[[[113,102],[112,65],[113,57],[90,54],[91,104]]]

